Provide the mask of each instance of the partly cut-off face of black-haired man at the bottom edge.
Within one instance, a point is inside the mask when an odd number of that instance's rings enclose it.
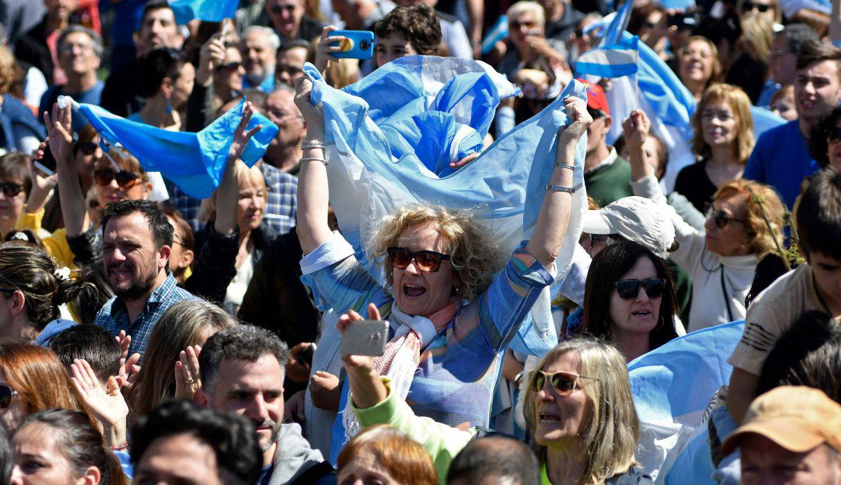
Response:
[[[152,441],[140,456],[134,480],[167,485],[222,485],[213,448],[187,434]]]

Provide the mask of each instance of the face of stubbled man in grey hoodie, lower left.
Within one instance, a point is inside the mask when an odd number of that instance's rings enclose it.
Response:
[[[216,384],[205,393],[211,409],[251,419],[263,452],[274,445],[283,421],[283,367],[275,356],[221,361]]]

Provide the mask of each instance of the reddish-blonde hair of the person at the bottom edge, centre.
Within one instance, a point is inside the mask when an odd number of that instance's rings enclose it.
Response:
[[[429,453],[402,431],[386,424],[362,430],[341,449],[338,459],[339,483],[345,467],[362,453],[369,453],[385,468],[394,482],[403,485],[437,485],[438,473]]]

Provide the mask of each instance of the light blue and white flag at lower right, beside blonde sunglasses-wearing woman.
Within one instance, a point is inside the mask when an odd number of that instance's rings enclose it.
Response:
[[[701,329],[678,337],[631,361],[628,376],[637,415],[640,444],[637,460],[657,483],[666,476],[705,426],[705,411],[718,389],[730,381],[727,359],[742,338],[744,320]],[[672,477],[691,483],[694,477]]]

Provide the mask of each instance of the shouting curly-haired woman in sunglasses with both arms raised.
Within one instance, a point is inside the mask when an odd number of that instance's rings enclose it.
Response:
[[[470,211],[417,205],[397,209],[373,235],[368,256],[382,261],[382,285],[330,229],[323,113],[310,102],[311,82],[300,78],[296,85],[295,104],[309,136],[298,182],[305,281],[323,308],[344,314],[375,303],[394,322],[378,368],[394,378],[401,398],[411,397],[415,412],[450,425],[487,425],[498,363],[537,295],[553,282],[547,268],[566,234],[574,192],[570,164],[592,122],[584,101],[565,101],[572,123],[559,131],[557,163],[539,194],[532,240],[513,251],[504,269],[500,251]],[[346,407],[341,418],[347,421],[343,443],[356,426]]]

